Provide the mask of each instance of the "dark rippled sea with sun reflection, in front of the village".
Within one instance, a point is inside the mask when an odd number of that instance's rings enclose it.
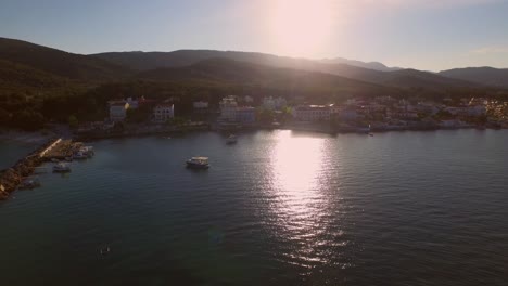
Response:
[[[507,131],[92,144],[0,203],[2,285],[508,285]]]

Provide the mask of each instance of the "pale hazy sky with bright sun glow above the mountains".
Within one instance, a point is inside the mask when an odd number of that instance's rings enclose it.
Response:
[[[508,0],[0,0],[0,36],[85,54],[217,49],[508,67]]]

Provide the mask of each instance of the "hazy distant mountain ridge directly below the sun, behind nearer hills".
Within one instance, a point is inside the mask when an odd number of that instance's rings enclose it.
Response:
[[[263,64],[279,68],[303,69],[307,72],[319,72],[332,74],[351,79],[367,81],[377,84],[386,84],[398,88],[424,87],[442,88],[466,86],[472,87],[478,83],[467,82],[455,78],[442,77],[440,75],[421,72],[408,72],[412,69],[395,69],[380,72],[376,69],[353,66],[345,63],[322,63],[320,61],[278,56],[265,53],[216,51],[216,50],[177,50],[174,52],[112,52],[93,54],[105,61],[118,65],[126,65],[131,69],[148,70],[164,67],[182,67],[195,64],[200,61],[225,57],[241,62]],[[383,65],[384,66],[384,65]],[[388,68],[388,67],[386,67]],[[408,80],[404,80],[408,79]]]

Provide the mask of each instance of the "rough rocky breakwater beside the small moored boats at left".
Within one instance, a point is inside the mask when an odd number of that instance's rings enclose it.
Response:
[[[14,166],[0,172],[0,200],[7,199],[23,182],[23,179],[34,173],[37,166],[43,161],[41,153],[51,146],[55,140],[50,140],[43,146],[20,159]]]

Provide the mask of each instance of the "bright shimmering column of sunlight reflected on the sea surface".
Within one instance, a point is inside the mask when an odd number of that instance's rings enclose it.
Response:
[[[295,136],[290,131],[279,135],[270,156],[277,235],[292,246],[284,253],[289,263],[304,269],[326,264],[333,253],[322,246],[332,245],[333,235],[327,225],[332,213],[323,177],[334,157],[326,138]]]

